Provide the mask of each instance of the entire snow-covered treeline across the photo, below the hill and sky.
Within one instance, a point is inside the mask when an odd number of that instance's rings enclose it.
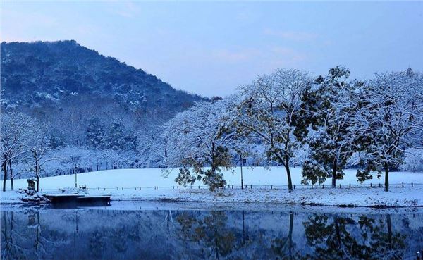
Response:
[[[226,185],[222,169],[243,165],[283,166],[289,190],[290,167],[302,166],[305,184],[331,178],[333,187],[344,168],[355,167],[360,182],[385,173],[388,190],[389,171],[423,169],[423,76],[411,69],[367,81],[349,75],[341,66],[317,78],[278,69],[229,97],[197,102],[165,125],[150,121],[138,130],[93,113],[75,130],[78,143],[58,138],[61,122],[7,111],[3,189],[7,179],[13,189],[14,178],[154,167],[179,168],[180,185],[197,180],[214,190]],[[72,135],[68,125],[66,131]]]

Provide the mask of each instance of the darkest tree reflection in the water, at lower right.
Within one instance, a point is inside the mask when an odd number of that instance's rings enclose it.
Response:
[[[312,247],[307,259],[403,259],[406,236],[393,233],[390,215],[386,221],[314,215],[303,225]]]

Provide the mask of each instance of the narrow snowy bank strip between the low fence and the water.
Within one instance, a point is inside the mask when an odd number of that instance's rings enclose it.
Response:
[[[58,193],[59,191],[40,192]],[[384,192],[379,187],[355,187],[351,189],[226,189],[210,192],[207,189],[141,189],[141,190],[90,190],[89,194],[111,194],[114,201],[146,202],[242,202],[270,204],[300,204],[319,206],[362,207],[418,207],[423,206],[422,187],[391,187]],[[1,204],[23,203],[24,194],[1,192]]]

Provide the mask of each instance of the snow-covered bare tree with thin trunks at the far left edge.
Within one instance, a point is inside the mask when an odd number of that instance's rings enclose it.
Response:
[[[30,151],[32,140],[31,129],[35,125],[34,118],[24,113],[1,113],[0,152],[1,168],[4,173],[3,190],[6,190],[8,172],[13,190],[13,163],[20,161]]]

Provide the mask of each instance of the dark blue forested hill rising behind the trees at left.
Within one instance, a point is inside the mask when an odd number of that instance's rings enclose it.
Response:
[[[137,130],[199,100],[75,41],[1,43],[1,109],[47,120],[65,139],[67,125],[70,142],[83,143],[92,117]]]

